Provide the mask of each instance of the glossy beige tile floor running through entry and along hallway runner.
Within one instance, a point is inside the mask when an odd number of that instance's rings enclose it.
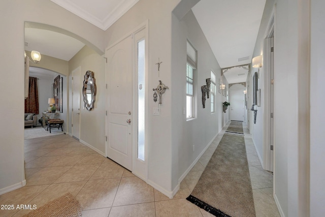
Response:
[[[0,204],[36,204],[70,192],[82,216],[213,216],[185,198],[191,193],[220,142],[226,125],[169,199],[131,172],[68,135],[25,140],[25,187],[0,196]],[[273,199],[273,176],[259,163],[244,126],[256,216],[280,216]],[[1,210],[0,216],[22,216],[29,210]]]

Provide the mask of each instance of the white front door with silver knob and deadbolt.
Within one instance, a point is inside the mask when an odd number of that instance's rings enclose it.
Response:
[[[132,170],[132,36],[106,50],[108,78],[107,157]]]

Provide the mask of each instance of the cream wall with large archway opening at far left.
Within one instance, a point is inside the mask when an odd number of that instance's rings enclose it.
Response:
[[[58,5],[43,0],[4,1],[0,7],[0,26],[3,47],[0,59],[2,73],[7,79],[0,85],[1,92],[10,91],[3,100],[0,112],[6,114],[0,126],[0,194],[24,185],[24,22],[54,25],[88,40],[104,51],[103,30]],[[31,11],[33,13],[31,13]],[[8,22],[8,17],[11,21]],[[13,23],[15,23],[13,25]]]

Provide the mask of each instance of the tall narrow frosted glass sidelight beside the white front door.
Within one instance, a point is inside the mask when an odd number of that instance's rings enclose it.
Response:
[[[145,159],[145,40],[138,42],[138,159]]]

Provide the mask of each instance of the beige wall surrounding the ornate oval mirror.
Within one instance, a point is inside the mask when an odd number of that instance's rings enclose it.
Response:
[[[96,151],[105,156],[105,59],[88,46],[84,46],[69,61],[70,78],[72,71],[81,68],[80,75],[80,141],[90,145]],[[96,98],[94,107],[88,111],[84,107],[82,87],[86,71],[94,72],[96,82]],[[75,80],[74,80],[75,81]],[[71,80],[69,81],[71,87]],[[69,104],[72,105],[72,89],[69,89]],[[72,123],[72,110],[69,108],[69,122]],[[69,124],[69,133],[72,134],[71,124]]]

